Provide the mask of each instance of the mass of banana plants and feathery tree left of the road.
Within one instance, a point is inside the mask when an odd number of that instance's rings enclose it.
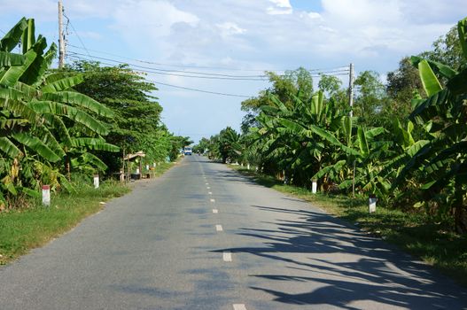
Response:
[[[34,19],[0,40],[0,211],[39,198],[43,184],[74,191],[75,175],[115,168],[121,151],[175,159],[186,142],[160,123],[155,88],[140,75],[88,63],[52,70],[56,53]]]

